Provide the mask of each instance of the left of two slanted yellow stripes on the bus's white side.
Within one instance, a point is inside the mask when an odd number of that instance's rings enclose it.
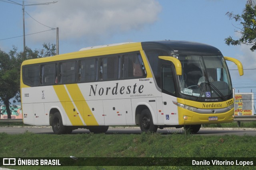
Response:
[[[72,125],[84,125],[80,117],[76,114],[76,112],[74,113],[74,111],[72,110],[72,108],[75,107],[72,104],[64,85],[53,86],[53,88],[59,98],[60,103],[62,104],[62,107],[65,109],[65,112],[68,115],[68,119],[70,120]]]

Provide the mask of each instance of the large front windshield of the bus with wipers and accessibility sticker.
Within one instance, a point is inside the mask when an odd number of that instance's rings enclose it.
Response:
[[[232,94],[232,85],[222,55],[177,55],[182,64],[178,76],[180,93],[197,98],[222,98]]]

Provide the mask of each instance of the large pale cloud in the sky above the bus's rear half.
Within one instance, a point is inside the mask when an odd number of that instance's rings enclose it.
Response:
[[[41,1],[39,1],[41,2]],[[45,1],[42,1],[45,2]],[[51,2],[51,1],[47,1]],[[55,4],[34,6],[26,11],[34,19],[59,27],[60,40],[93,42],[134,29],[143,29],[158,20],[161,6],[157,0],[58,0]],[[47,30],[26,16],[28,33]],[[56,31],[31,36],[34,42],[56,39]]]

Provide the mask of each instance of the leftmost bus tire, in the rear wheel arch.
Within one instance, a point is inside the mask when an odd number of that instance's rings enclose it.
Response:
[[[67,128],[62,123],[60,112],[56,112],[52,119],[52,130],[54,134],[61,135],[67,133]]]

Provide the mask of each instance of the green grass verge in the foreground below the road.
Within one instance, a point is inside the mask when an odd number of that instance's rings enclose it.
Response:
[[[49,135],[0,133],[1,157],[254,157],[255,136],[202,136],[158,133]],[[8,167],[9,168],[9,167]],[[43,170],[43,166],[14,166],[13,169]],[[47,169],[51,167],[46,167]],[[53,168],[53,167],[52,167]],[[72,166],[60,169],[120,169],[115,166]],[[131,168],[131,167],[130,167]],[[194,169],[194,166],[138,166],[132,169]],[[196,169],[205,169],[198,166]],[[216,166],[216,169],[221,169]],[[227,167],[226,167],[227,168]],[[226,169],[225,168],[225,169]],[[240,166],[230,166],[240,169]],[[250,166],[247,166],[247,169]],[[122,167],[129,169],[129,167]]]

